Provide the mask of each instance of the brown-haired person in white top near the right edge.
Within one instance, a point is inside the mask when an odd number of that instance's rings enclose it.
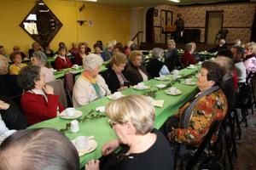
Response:
[[[242,62],[242,58],[243,58],[243,55],[245,54],[245,50],[244,48],[234,46],[231,48],[231,51],[235,60],[238,83],[246,82],[247,70],[244,63]]]

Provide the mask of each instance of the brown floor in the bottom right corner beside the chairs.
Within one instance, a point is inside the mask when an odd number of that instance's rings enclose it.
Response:
[[[234,158],[234,169],[256,169],[256,110],[247,116],[248,127],[242,126],[241,140],[237,141],[238,157]]]

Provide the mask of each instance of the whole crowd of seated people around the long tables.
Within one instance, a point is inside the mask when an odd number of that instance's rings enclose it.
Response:
[[[27,169],[28,164],[31,169],[79,169],[79,155],[63,134],[49,128],[20,130],[65,110],[60,96],[47,85],[55,81],[48,57],[55,56],[52,66],[58,71],[83,66],[79,77],[73,77],[71,103],[78,108],[204,60],[196,52],[195,42],[185,44],[183,53],[178,52],[173,40],[167,41],[166,47],[166,53],[162,48],[153,48],[147,61],[131,41],[124,46],[113,40],[106,48],[102,41],[97,41],[93,45],[94,53],[87,42],[79,45],[73,42],[69,50],[60,42],[56,53],[49,45],[41,48],[38,42],[33,42],[28,52],[32,62],[26,65],[22,63],[26,55],[18,46],[9,57],[0,46],[0,137],[6,138],[0,145],[0,169]],[[90,160],[85,169],[107,166],[108,169],[169,170],[174,169],[177,156],[183,156],[184,150],[198,148],[212,123],[223,122],[235,107],[237,90],[246,83],[247,75],[256,71],[255,42],[241,45],[237,40],[229,48],[221,39],[208,52],[216,53],[216,57],[201,64],[196,82],[199,93],[159,130],[154,129],[154,105],[145,96],[128,95],[110,102],[105,112],[117,139],[102,146],[102,155],[108,156],[124,146],[122,159],[110,165]],[[101,71],[103,63],[105,71]],[[19,103],[14,101],[17,97]],[[216,139],[217,134],[212,142]],[[16,156],[10,156],[13,152]]]

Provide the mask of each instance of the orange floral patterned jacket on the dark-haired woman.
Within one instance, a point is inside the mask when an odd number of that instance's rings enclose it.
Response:
[[[189,105],[190,102],[183,105],[177,116],[182,117],[183,111]],[[227,110],[228,102],[222,89],[202,96],[193,109],[189,119],[189,127],[175,128],[171,133],[172,139],[182,144],[198,146],[207,134],[212,122],[224,120]]]

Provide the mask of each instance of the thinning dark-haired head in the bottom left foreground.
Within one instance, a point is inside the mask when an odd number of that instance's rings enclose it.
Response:
[[[53,128],[20,130],[0,146],[0,169],[76,170],[79,154],[72,142]]]

